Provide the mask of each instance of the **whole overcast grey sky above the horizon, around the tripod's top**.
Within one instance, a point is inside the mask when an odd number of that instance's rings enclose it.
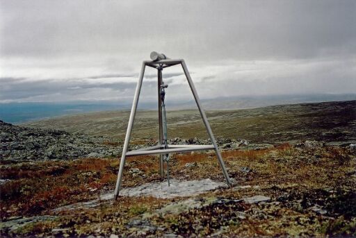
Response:
[[[355,93],[356,1],[0,0],[0,102],[131,101],[151,51],[198,94]],[[143,100],[156,100],[146,70]],[[181,67],[171,99],[191,99]]]

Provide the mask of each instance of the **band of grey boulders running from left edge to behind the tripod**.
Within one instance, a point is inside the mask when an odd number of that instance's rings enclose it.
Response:
[[[268,147],[268,144],[250,144],[245,139],[218,138],[218,145],[223,149],[247,146]],[[76,158],[108,158],[120,156],[123,142],[111,141],[107,137],[67,133],[63,130],[50,130],[14,126],[0,121],[0,160],[7,162],[36,160],[72,160]],[[173,138],[170,144],[211,144],[209,139]],[[130,149],[153,146],[154,139],[141,139],[140,144],[133,142]]]

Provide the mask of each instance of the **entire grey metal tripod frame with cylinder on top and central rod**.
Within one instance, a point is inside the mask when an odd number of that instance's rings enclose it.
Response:
[[[163,176],[164,176],[163,162],[164,162],[164,160],[166,160],[166,162],[168,162],[168,160],[169,160],[168,154],[169,153],[215,150],[216,156],[218,158],[218,162],[220,164],[221,169],[223,170],[223,175],[225,177],[227,185],[229,185],[229,187],[232,187],[232,183],[230,181],[229,174],[227,173],[225,163],[224,163],[221,153],[219,151],[218,145],[216,144],[216,140],[213,135],[213,132],[211,131],[207,116],[205,115],[205,112],[202,109],[202,104],[200,103],[200,99],[197,96],[197,91],[195,90],[193,80],[191,79],[191,75],[188,72],[186,63],[184,62],[184,60],[168,59],[165,57],[165,55],[156,53],[154,51],[151,53],[151,59],[152,59],[152,61],[148,61],[148,60],[143,61],[141,72],[140,72],[140,78],[138,79],[135,96],[133,97],[133,103],[132,103],[131,114],[130,114],[130,118],[129,118],[129,124],[127,126],[127,132],[126,132],[126,137],[125,137],[125,141],[124,141],[124,148],[122,148],[120,168],[118,171],[118,180],[116,182],[116,187],[115,187],[115,193],[114,193],[115,200],[119,196],[125,160],[128,156],[134,156],[134,155],[159,154],[160,155],[159,171],[160,171],[161,177],[163,178]],[[186,79],[188,80],[189,87],[191,87],[191,91],[193,93],[195,102],[197,103],[197,108],[199,109],[200,116],[202,117],[204,126],[207,129],[207,133],[210,137],[210,141],[211,141],[210,145],[170,145],[167,142],[166,121],[163,121],[163,120],[165,120],[164,94],[165,94],[165,88],[167,87],[167,85],[164,85],[164,83],[163,83],[162,70],[166,67],[171,67],[173,65],[181,65],[181,67],[183,68]],[[157,69],[157,73],[158,73],[157,78],[158,78],[158,98],[159,98],[159,144],[156,146],[148,147],[148,148],[141,148],[136,151],[127,151],[129,148],[129,141],[130,141],[131,131],[132,131],[132,127],[133,127],[133,120],[135,119],[135,115],[136,115],[138,99],[140,97],[140,90],[141,90],[141,86],[143,83],[143,76],[145,74],[146,66]],[[163,115],[163,113],[164,113],[164,115]],[[165,125],[164,127],[163,127],[163,124]],[[169,172],[169,170],[168,170],[168,172]],[[168,182],[169,182],[169,174],[168,174]]]

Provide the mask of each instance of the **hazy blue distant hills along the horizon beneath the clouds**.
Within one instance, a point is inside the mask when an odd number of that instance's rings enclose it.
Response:
[[[296,103],[315,103],[323,101],[356,100],[356,94],[293,94],[275,96],[234,96],[216,99],[202,99],[205,110],[235,110],[244,108],[261,108],[268,105]],[[170,101],[167,97],[167,110],[195,109],[195,101]],[[156,110],[156,101],[140,101],[140,110]],[[0,103],[0,119],[13,124],[36,121],[51,117],[85,112],[108,110],[129,110],[131,101],[88,101],[70,103]]]

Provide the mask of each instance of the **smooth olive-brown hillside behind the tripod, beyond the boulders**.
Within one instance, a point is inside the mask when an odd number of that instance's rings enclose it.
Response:
[[[129,111],[92,112],[42,121],[26,126],[56,128],[71,133],[124,139]],[[207,138],[197,110],[167,112],[168,137]],[[356,143],[356,101],[273,105],[244,110],[208,110],[216,136],[248,139],[254,143],[296,142],[316,139],[334,144]],[[133,126],[133,140],[158,137],[158,112],[140,110]]]

